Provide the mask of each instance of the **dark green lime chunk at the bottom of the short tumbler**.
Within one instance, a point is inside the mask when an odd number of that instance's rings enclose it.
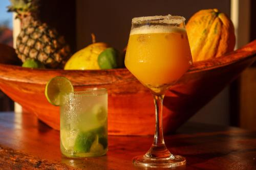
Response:
[[[74,151],[76,152],[90,152],[90,148],[95,140],[94,132],[79,132],[76,136]]]

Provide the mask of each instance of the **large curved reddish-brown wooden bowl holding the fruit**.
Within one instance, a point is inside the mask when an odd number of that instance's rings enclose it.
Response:
[[[166,93],[164,133],[175,131],[217,95],[256,57],[256,40],[225,56],[195,62]],[[152,135],[155,129],[153,98],[127,69],[53,70],[0,64],[0,89],[50,127],[59,129],[59,107],[45,98],[46,83],[55,76],[71,80],[75,90],[104,87],[109,93],[109,134]]]

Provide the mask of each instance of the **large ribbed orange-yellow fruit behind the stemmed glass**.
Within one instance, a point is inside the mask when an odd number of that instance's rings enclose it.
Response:
[[[232,21],[218,9],[197,12],[186,30],[193,62],[220,57],[233,51],[236,43]]]

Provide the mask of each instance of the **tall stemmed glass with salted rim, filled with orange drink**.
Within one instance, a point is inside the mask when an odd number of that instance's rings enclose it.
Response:
[[[156,107],[156,130],[150,150],[133,158],[144,167],[176,167],[186,159],[171,154],[164,144],[162,105],[165,91],[191,66],[192,57],[182,16],[146,16],[132,19],[125,66],[151,90]]]

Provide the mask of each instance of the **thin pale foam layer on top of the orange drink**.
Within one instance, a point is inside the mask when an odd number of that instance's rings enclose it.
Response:
[[[134,34],[153,34],[153,33],[184,33],[184,28],[174,26],[141,26],[131,30],[130,35]]]

